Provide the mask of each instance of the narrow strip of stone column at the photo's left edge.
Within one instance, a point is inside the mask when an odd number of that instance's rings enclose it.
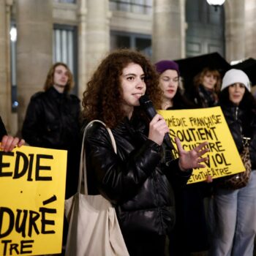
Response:
[[[12,131],[12,98],[10,80],[10,12],[12,1],[0,1],[0,115],[7,128]],[[1,138],[0,138],[1,140]]]

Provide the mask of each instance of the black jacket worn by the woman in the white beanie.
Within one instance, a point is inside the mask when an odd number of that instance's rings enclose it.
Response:
[[[230,128],[230,132],[235,140],[238,151],[243,149],[241,136],[251,138],[250,140],[250,158],[252,170],[256,170],[256,113],[255,110],[244,110],[231,102],[221,105],[222,112]]]

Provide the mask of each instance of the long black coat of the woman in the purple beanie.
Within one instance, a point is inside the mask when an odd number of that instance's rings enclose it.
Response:
[[[195,105],[184,97],[173,98],[167,110],[192,109]],[[186,256],[209,247],[204,198],[211,194],[211,184],[199,182],[173,187],[176,200],[176,225],[169,234],[169,255]]]

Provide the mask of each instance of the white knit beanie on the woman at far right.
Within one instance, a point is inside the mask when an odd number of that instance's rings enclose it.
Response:
[[[246,73],[240,69],[230,69],[225,73],[224,78],[222,79],[221,91],[234,83],[243,83],[246,89],[251,91],[249,78]]]

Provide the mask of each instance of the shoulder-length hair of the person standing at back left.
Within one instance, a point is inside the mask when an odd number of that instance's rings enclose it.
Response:
[[[67,80],[67,85],[65,86],[64,91],[70,91],[74,87],[74,85],[75,85],[74,78],[73,78],[72,72],[70,71],[67,64],[65,64],[63,62],[56,62],[55,64],[53,64],[50,67],[50,69],[48,71],[48,74],[47,74],[47,77],[46,77],[46,80],[45,80],[45,86],[44,86],[45,91],[50,89],[50,87],[53,87],[54,72],[55,72],[56,67],[59,67],[59,66],[65,67],[67,69],[67,73],[68,73],[68,76],[69,76],[69,80]]]

